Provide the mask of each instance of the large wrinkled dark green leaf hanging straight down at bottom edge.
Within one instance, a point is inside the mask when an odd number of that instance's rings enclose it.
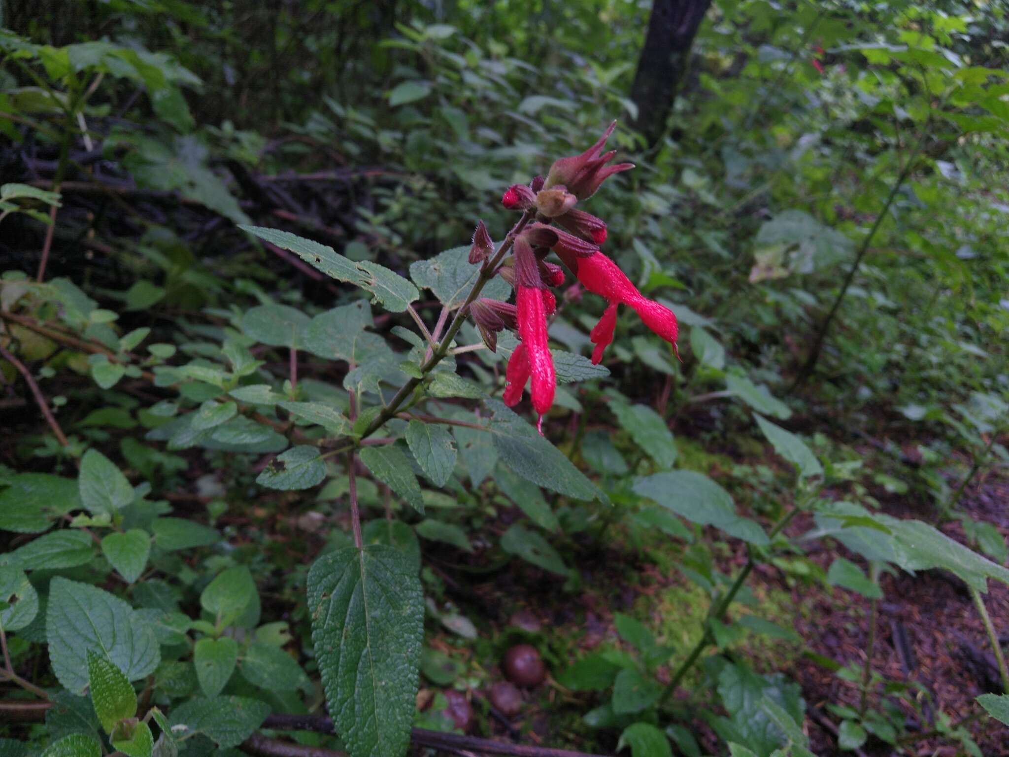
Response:
[[[312,640],[351,757],[402,757],[416,708],[424,598],[414,564],[382,545],[341,549],[309,571]]]

